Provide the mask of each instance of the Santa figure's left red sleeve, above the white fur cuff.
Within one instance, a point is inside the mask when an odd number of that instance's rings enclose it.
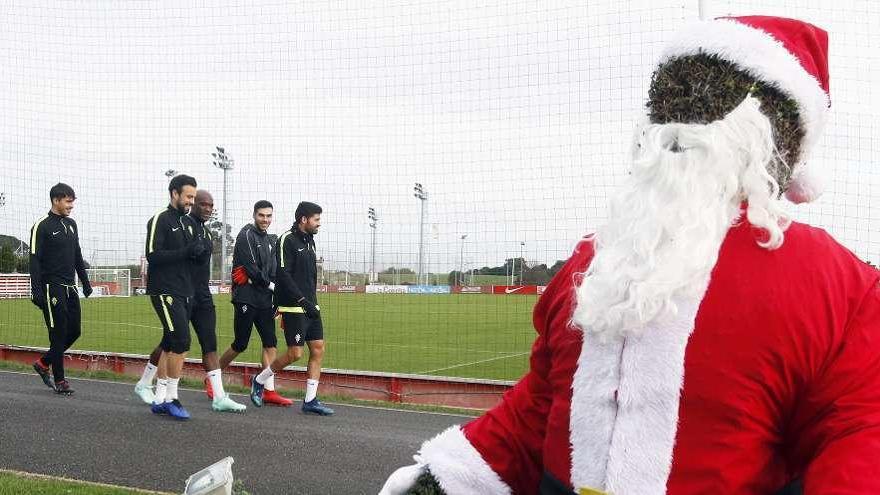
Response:
[[[464,435],[512,493],[537,493],[543,474],[547,417],[553,400],[549,380],[552,342],[547,322],[571,297],[573,277],[592,258],[592,244],[583,241],[553,277],[534,311],[538,337],[532,345],[529,371],[500,404],[463,427]],[[565,307],[568,307],[567,305]]]

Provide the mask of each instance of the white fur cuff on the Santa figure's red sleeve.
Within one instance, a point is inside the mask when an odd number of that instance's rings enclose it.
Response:
[[[510,493],[510,487],[483,460],[458,425],[422,444],[418,460],[428,466],[449,495]]]

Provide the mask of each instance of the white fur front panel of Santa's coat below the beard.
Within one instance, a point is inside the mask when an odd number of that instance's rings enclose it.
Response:
[[[637,337],[602,344],[584,332],[571,403],[575,490],[666,492],[685,349],[699,307],[698,300],[676,303],[674,318]]]

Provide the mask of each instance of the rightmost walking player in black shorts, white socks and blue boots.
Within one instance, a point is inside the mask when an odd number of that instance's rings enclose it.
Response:
[[[304,413],[329,416],[333,409],[318,400],[318,383],[324,357],[324,326],[318,307],[318,266],[315,254],[315,234],[321,227],[321,207],[303,201],[296,208],[296,223],[278,239],[275,256],[278,274],[275,304],[281,313],[287,352],[251,380],[251,401],[263,405],[267,381],[285,366],[303,355],[303,345],[309,346],[308,380],[303,400]]]

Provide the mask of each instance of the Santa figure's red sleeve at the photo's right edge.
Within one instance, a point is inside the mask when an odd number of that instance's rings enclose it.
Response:
[[[793,423],[804,495],[880,493],[880,288],[850,319],[839,350],[805,391]]]

